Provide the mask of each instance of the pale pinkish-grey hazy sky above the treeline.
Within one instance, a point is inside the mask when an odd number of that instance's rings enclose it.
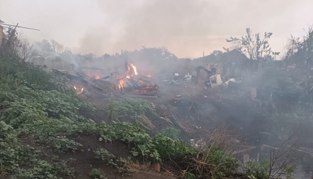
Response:
[[[226,38],[273,32],[283,51],[290,34],[313,24],[313,0],[0,0],[0,19],[37,28],[30,39],[54,39],[78,53],[165,46],[178,57],[199,57],[227,46]]]

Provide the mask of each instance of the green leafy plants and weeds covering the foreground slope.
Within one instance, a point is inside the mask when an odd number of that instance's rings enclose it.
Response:
[[[79,152],[83,147],[66,136],[98,135],[99,141],[122,141],[128,144],[132,155],[141,162],[161,163],[165,159],[180,160],[180,170],[186,179],[230,178],[238,173],[239,162],[218,146],[198,151],[179,140],[179,130],[164,128],[156,136],[143,129],[142,115],[156,116],[152,103],[147,100],[109,100],[107,113],[111,125],[95,124],[79,114],[79,110],[92,111],[94,107],[78,98],[73,89],[66,87],[64,79],[47,73],[14,54],[0,51],[0,177],[12,179],[74,178],[74,169],[68,161],[53,156],[47,161],[41,151],[22,145],[20,139],[33,137],[58,155]],[[287,91],[288,92],[288,91]],[[288,92],[289,94],[290,92]],[[291,92],[292,93],[292,92]],[[118,121],[126,116],[136,122]],[[103,116],[105,117],[105,116]],[[118,172],[135,171],[130,158],[114,156],[103,148],[94,151],[95,158]],[[268,179],[269,164],[250,162],[244,170],[249,178]],[[293,168],[287,166],[286,176],[292,179]],[[105,179],[96,169],[89,176]]]

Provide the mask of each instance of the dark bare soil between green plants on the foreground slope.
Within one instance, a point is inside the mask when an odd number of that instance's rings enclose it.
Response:
[[[60,161],[73,161],[72,163],[69,163],[69,166],[74,168],[74,175],[76,179],[90,179],[88,174],[91,169],[98,169],[98,171],[108,179],[175,179],[175,177],[159,173],[152,168],[148,168],[146,171],[132,173],[130,176],[122,175],[114,168],[107,166],[98,159],[95,159],[93,151],[97,150],[98,148],[106,149],[117,157],[131,157],[128,146],[122,142],[100,142],[98,140],[99,137],[96,135],[78,137],[69,136],[67,138],[80,143],[82,145],[82,150],[75,153],[69,152],[66,154],[59,154],[54,152],[52,147],[47,147],[46,144],[43,145],[34,142],[33,137],[23,138],[21,142],[23,145],[29,145],[34,147],[36,150],[40,150],[42,154],[46,156],[44,158],[46,161],[51,162],[53,156],[59,156]]]

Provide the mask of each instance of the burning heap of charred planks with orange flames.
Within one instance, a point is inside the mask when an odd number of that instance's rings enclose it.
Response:
[[[71,83],[69,86],[74,86],[74,89],[79,94],[83,93],[86,88],[78,88],[78,82],[82,82],[85,87],[89,84],[90,89],[102,93],[126,92],[128,94],[150,96],[157,94],[158,86],[151,82],[151,75],[145,76],[139,74],[136,66],[132,63],[125,63],[125,72],[123,75],[119,72],[111,72],[110,76],[102,78],[99,74],[103,74],[103,69],[87,68],[88,70],[86,70],[85,68],[73,73],[64,70],[53,70],[53,72],[70,79]]]

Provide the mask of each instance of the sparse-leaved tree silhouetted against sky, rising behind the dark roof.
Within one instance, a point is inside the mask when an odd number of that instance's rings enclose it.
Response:
[[[250,60],[261,61],[267,59],[270,56],[271,47],[268,43],[268,39],[273,33],[265,32],[264,37],[261,39],[260,33],[252,34],[250,28],[246,28],[246,35],[241,38],[230,37],[226,39],[231,43],[230,48],[224,48],[226,51],[239,50],[241,53],[248,56]]]

